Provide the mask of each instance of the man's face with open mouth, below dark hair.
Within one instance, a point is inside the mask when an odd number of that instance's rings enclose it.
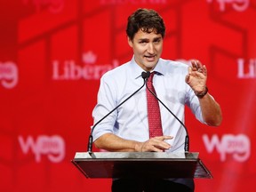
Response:
[[[139,30],[133,40],[128,37],[128,44],[132,47],[135,61],[146,71],[151,71],[156,67],[163,50],[163,37],[156,34],[153,30],[151,33]]]

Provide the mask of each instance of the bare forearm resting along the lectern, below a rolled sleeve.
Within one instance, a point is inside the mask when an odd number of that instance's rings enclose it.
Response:
[[[139,151],[141,143],[135,140],[124,140],[115,134],[106,133],[94,141],[96,148],[105,149],[108,151]]]

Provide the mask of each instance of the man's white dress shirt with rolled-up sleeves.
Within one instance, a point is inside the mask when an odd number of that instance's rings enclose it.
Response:
[[[116,108],[123,100],[138,90],[143,84],[142,68],[134,58],[123,65],[104,74],[100,79],[98,103],[92,111],[96,124],[109,111]],[[193,90],[185,82],[188,65],[172,60],[159,59],[153,78],[157,97],[164,102],[175,116],[184,124],[185,105],[204,123],[199,100]],[[97,140],[105,133],[114,133],[126,140],[146,141],[148,133],[148,111],[146,85],[131,99],[124,102],[93,130],[93,140]],[[180,122],[159,103],[164,135],[173,136],[166,142],[172,145],[170,151],[184,151],[186,132]],[[188,129],[189,132],[189,129]]]

